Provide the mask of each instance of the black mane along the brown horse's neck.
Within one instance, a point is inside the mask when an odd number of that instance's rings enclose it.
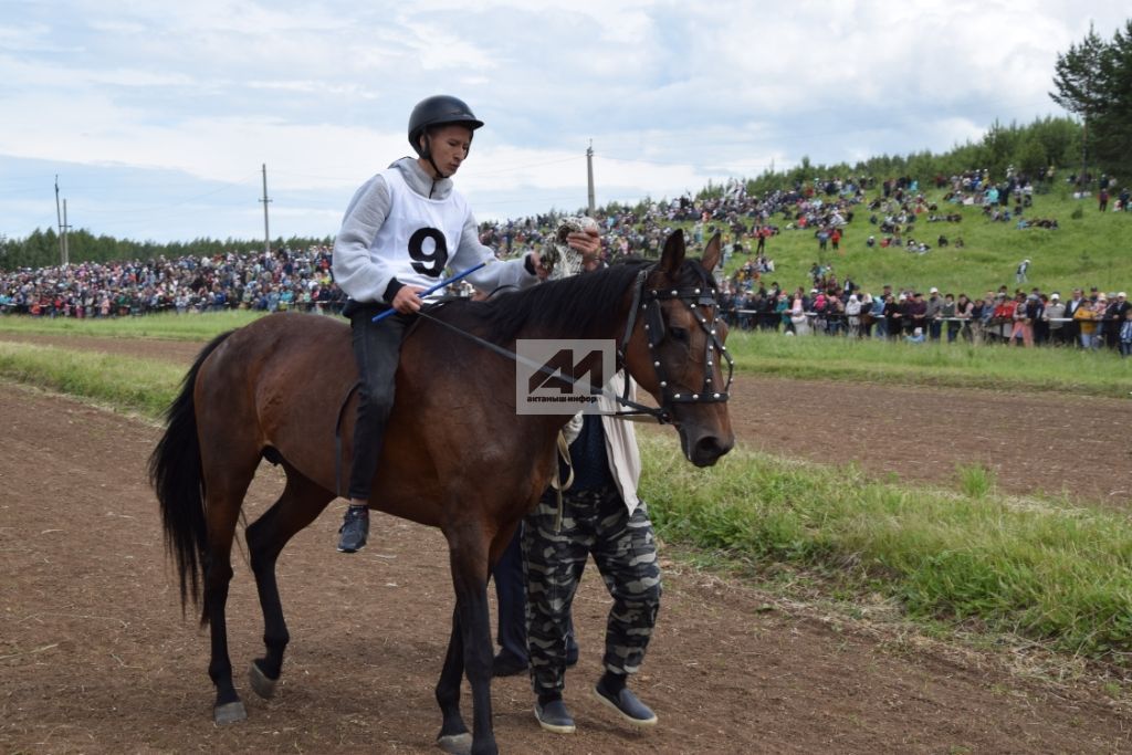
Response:
[[[509,343],[524,327],[539,332],[561,323],[575,327],[578,337],[588,337],[617,316],[626,289],[646,264],[627,261],[498,293],[487,301],[449,302],[443,309],[451,324],[475,331],[496,344]]]

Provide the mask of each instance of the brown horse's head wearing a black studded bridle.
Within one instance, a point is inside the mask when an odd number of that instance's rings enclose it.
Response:
[[[698,260],[685,257],[683,231],[669,235],[634,293],[623,349],[626,369],[676,427],[696,466],[711,466],[735,445],[727,411],[731,358],[712,276],[720,260],[718,233]]]

